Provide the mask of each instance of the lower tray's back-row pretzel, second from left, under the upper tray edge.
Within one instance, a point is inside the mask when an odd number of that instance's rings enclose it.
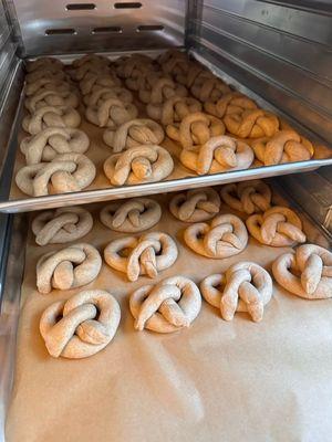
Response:
[[[162,208],[149,198],[114,201],[102,209],[100,218],[111,230],[136,233],[155,225],[162,218]]]

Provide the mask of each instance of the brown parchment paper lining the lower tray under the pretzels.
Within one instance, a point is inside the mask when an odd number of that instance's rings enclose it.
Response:
[[[156,281],[183,274],[199,283],[241,260],[270,271],[272,261],[289,250],[262,246],[250,238],[237,256],[199,256],[184,244],[188,224],[170,215],[169,198],[158,198],[163,218],[151,230],[176,238],[179,257]],[[82,241],[102,253],[123,234],[101,224],[101,207],[90,207],[94,228]],[[309,241],[328,246],[319,231],[309,222],[304,225]],[[96,281],[84,288],[105,288],[118,299],[122,319],[115,338],[91,358],[54,359],[39,334],[40,316],[51,303],[79,290],[39,294],[35,263],[62,246],[40,248],[29,233],[9,442],[331,441],[331,301],[304,301],[274,283],[260,324],[247,314],[236,314],[227,323],[203,302],[188,329],[139,333],[133,328],[128,294],[152,280],[128,283],[124,274],[103,264]]]

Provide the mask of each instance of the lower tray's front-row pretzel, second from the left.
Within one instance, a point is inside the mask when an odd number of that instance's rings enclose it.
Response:
[[[198,316],[201,297],[197,285],[184,276],[167,277],[156,285],[145,285],[129,298],[135,328],[173,333],[189,327]]]

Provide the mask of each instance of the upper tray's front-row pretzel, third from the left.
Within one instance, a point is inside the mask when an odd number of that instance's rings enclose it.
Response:
[[[250,146],[226,135],[210,138],[196,150],[180,152],[181,164],[198,175],[248,169],[253,158]]]

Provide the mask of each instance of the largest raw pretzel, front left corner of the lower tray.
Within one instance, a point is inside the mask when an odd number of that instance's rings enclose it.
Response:
[[[51,304],[41,316],[40,333],[54,358],[81,359],[111,343],[120,318],[120,305],[111,293],[82,291]]]

